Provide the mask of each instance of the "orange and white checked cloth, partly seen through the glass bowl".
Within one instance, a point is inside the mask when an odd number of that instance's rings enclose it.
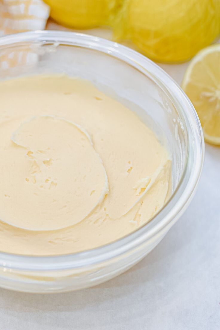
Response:
[[[30,30],[44,30],[49,7],[42,0],[0,0],[0,37]],[[37,61],[37,54],[28,49],[0,52],[0,71]]]

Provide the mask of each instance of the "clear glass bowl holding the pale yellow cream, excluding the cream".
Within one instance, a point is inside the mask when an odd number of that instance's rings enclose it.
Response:
[[[141,117],[172,156],[173,194],[150,222],[111,244],[59,256],[0,253],[0,286],[64,292],[107,281],[140,261],[189,205],[204,160],[200,121],[181,88],[138,52],[80,33],[34,31],[0,38],[0,79],[66,73],[90,80]],[[164,142],[166,141],[166,142]]]

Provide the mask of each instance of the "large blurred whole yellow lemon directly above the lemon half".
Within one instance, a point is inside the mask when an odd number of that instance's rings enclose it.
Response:
[[[114,27],[115,40],[162,62],[191,58],[219,33],[219,0],[124,0]]]

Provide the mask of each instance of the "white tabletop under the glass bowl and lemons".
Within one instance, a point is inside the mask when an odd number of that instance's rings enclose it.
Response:
[[[180,83],[187,65],[161,67]],[[219,330],[220,148],[206,144],[205,152],[191,205],[138,265],[71,293],[0,289],[0,330]]]

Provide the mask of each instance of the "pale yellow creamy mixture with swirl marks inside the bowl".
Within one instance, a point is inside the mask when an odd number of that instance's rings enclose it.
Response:
[[[0,83],[0,250],[65,254],[115,241],[171,193],[171,161],[132,111],[91,83]]]

